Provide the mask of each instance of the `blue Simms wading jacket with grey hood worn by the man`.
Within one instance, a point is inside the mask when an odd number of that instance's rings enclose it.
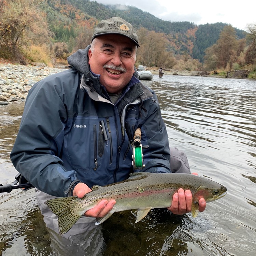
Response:
[[[71,69],[29,91],[14,167],[43,192],[67,196],[77,182],[89,187],[123,181],[134,171],[171,172],[168,136],[153,90],[132,76],[113,104],[90,72],[88,46],[68,58]],[[134,131],[140,127],[145,168],[133,170]]]

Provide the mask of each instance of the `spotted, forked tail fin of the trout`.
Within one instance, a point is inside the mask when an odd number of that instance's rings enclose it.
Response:
[[[81,215],[71,212],[71,204],[76,197],[59,197],[47,200],[45,204],[58,216],[59,234],[67,233]]]

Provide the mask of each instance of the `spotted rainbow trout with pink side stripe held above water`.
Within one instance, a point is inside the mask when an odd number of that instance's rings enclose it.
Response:
[[[191,214],[199,212],[198,201],[212,202],[227,194],[227,188],[205,177],[185,173],[134,172],[127,180],[106,186],[94,185],[83,198],[75,196],[47,200],[45,204],[58,216],[59,234],[67,233],[78,219],[94,208],[101,200],[116,201],[104,217],[96,218],[96,225],[103,223],[114,212],[137,209],[136,223],[154,208],[166,208],[179,188],[189,189],[193,195]]]

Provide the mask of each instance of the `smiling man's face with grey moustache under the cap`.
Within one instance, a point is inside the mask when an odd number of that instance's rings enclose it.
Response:
[[[117,34],[100,35],[89,49],[91,71],[100,75],[100,83],[109,93],[120,93],[128,84],[136,61],[136,45]]]

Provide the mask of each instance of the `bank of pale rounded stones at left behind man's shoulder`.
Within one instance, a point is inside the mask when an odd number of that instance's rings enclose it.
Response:
[[[0,105],[24,101],[29,89],[36,82],[48,75],[64,70],[49,68],[43,64],[38,66],[0,64]]]

